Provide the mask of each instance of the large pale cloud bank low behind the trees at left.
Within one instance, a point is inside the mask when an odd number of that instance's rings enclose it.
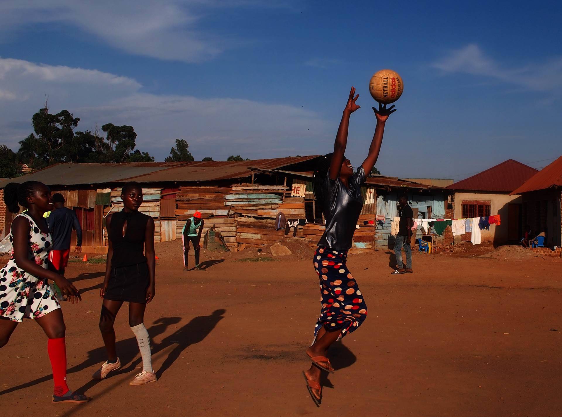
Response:
[[[157,159],[164,159],[176,138],[187,140],[198,159],[219,159],[314,153],[327,134],[327,123],[300,107],[148,94],[134,79],[97,70],[0,58],[0,79],[10,86],[9,96],[0,91],[1,138],[14,149],[33,131],[31,116],[45,95],[51,112],[67,109],[80,118],[78,130],[91,130],[95,123],[133,126],[138,147]]]

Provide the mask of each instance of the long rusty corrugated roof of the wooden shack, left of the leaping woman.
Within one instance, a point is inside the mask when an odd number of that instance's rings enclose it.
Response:
[[[47,185],[105,184],[108,182],[213,181],[252,175],[249,166],[281,168],[319,155],[255,159],[253,161],[57,163],[27,175],[0,182],[41,181]]]

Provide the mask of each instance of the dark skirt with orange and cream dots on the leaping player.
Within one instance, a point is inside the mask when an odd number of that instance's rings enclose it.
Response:
[[[359,286],[346,267],[347,250],[319,247],[314,253],[314,269],[320,278],[322,308],[314,328],[314,338],[322,326],[341,329],[338,340],[355,331],[367,318],[367,305]]]

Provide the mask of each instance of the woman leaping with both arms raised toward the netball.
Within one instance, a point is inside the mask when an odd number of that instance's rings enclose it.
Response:
[[[334,152],[320,161],[314,172],[314,195],[324,213],[326,230],[314,254],[314,269],[320,278],[320,317],[314,329],[314,340],[306,350],[312,361],[310,369],[303,372],[310,396],[319,406],[321,400],[320,370],[334,372],[327,357],[328,348],[336,340],[355,331],[367,317],[367,306],[357,282],[346,267],[347,251],[351,248],[353,232],[361,213],[363,200],[361,184],[373,169],[383,140],[384,123],[396,111],[394,105],[373,107],[377,127],[369,154],[357,172],[344,155],[351,113],[360,106],[355,104],[359,94],[351,88],[347,106],[339,123]]]

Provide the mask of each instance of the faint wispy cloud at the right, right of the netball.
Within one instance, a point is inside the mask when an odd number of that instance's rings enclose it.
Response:
[[[470,44],[451,51],[432,64],[445,72],[484,76],[528,90],[549,91],[562,88],[562,58],[534,62],[522,67],[502,66],[487,57],[478,45]]]

